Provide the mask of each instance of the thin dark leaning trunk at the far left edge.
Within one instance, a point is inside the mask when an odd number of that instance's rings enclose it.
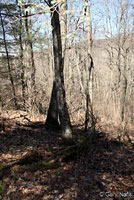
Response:
[[[11,72],[11,65],[10,65],[10,60],[9,60],[7,42],[6,42],[6,34],[5,34],[5,28],[4,28],[4,23],[3,23],[1,12],[0,12],[0,18],[1,18],[1,25],[2,25],[2,31],[3,31],[4,46],[5,46],[6,57],[7,57],[8,74],[9,74],[11,88],[12,88],[12,92],[13,92],[13,100],[14,100],[14,105],[15,105],[16,109],[18,109],[15,85],[14,85],[14,80],[13,80],[13,76],[12,76],[12,72]]]

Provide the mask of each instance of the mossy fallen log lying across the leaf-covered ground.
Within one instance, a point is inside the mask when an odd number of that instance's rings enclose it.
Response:
[[[0,167],[0,177],[3,177],[11,170],[16,172],[37,171],[55,169],[61,166],[61,163],[77,159],[78,155],[84,152],[91,144],[91,137],[84,137],[78,144],[68,146],[50,156],[47,160],[42,160],[42,156],[37,151],[25,155],[24,157],[10,162],[3,163]]]

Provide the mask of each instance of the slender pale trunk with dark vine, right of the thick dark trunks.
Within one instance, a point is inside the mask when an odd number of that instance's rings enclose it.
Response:
[[[86,84],[86,111],[85,111],[85,131],[88,129],[89,119],[91,118],[91,127],[94,126],[94,115],[92,107],[92,80],[91,73],[93,68],[93,58],[92,58],[92,30],[91,30],[91,17],[90,17],[90,5],[87,0],[84,0],[84,11],[86,15],[87,23],[87,39],[88,39],[88,49],[87,49],[87,84]]]

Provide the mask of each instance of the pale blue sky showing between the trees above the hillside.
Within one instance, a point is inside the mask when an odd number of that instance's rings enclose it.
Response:
[[[16,0],[1,0],[0,3],[13,3]],[[110,37],[111,33],[116,35],[118,30],[117,21],[119,21],[118,17],[120,17],[120,9],[118,7],[118,3],[121,0],[91,0],[91,21],[92,21],[92,31],[93,31],[93,38],[100,39]],[[134,0],[122,0],[123,5],[125,5],[129,1],[131,5],[129,7],[128,12],[128,25],[132,27],[134,23]],[[36,8],[40,7],[40,10],[44,9],[43,4],[39,4],[39,0],[33,0],[33,2],[37,3],[37,6],[31,10],[32,13],[36,12]],[[74,37],[74,41],[79,41],[86,39],[82,28],[85,29],[85,23],[80,25],[81,29],[78,29],[75,34],[73,34],[73,30],[76,27],[75,22],[81,15],[83,9],[83,1],[82,0],[69,0],[68,1],[68,21],[69,26],[68,30],[68,40]],[[110,19],[109,19],[110,16]],[[37,32],[36,36],[42,39],[46,39],[51,37],[52,27],[50,22],[50,15],[49,13],[35,15],[31,18],[33,24],[33,32]],[[81,17],[81,21],[84,20],[84,17]],[[110,25],[111,24],[111,25]],[[10,23],[8,24],[10,26]],[[126,27],[127,28],[127,27]],[[105,30],[105,35],[104,35]],[[112,31],[111,31],[112,30]],[[131,30],[130,30],[131,31]],[[9,35],[7,34],[7,38],[9,39]],[[47,46],[46,46],[47,47]]]

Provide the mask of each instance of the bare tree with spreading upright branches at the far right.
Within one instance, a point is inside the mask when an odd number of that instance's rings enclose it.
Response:
[[[115,14],[110,11],[110,5],[113,6]],[[127,124],[127,99],[129,98],[128,88],[130,85],[130,76],[132,68],[132,8],[131,2],[123,0],[114,2],[105,2],[106,25],[104,26],[106,38],[106,51],[109,56],[109,66],[111,73],[118,79],[112,88],[114,91],[114,100],[116,110],[119,111],[120,127],[124,130],[124,124]],[[105,21],[104,20],[104,21]],[[114,80],[115,82],[115,80]],[[128,95],[128,96],[127,96]],[[123,133],[123,132],[122,132]],[[123,136],[123,135],[122,135]]]

